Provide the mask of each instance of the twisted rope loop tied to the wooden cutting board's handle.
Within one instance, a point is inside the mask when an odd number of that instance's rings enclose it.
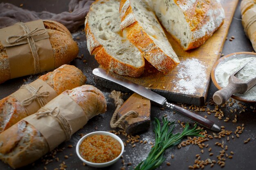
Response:
[[[112,91],[111,94],[109,95],[109,97],[113,98],[115,100],[115,106],[117,107],[114,114],[112,115],[112,118],[110,120],[110,127],[111,128],[121,128],[124,129],[120,124],[122,121],[124,121],[124,119],[126,119],[126,117],[132,115],[132,117],[136,118],[138,117],[138,113],[130,110],[129,112],[125,113],[123,116],[121,116],[118,120],[117,120],[117,113],[119,108],[121,107],[121,105],[124,103],[124,100],[121,99],[121,97],[123,96],[123,94],[120,91]]]

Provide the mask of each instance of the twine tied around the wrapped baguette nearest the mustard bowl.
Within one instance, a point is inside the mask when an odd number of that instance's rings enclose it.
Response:
[[[66,141],[68,141],[71,139],[71,136],[72,136],[72,128],[68,123],[67,119],[65,119],[65,117],[59,113],[60,113],[60,109],[58,107],[55,107],[54,109],[43,108],[43,110],[40,110],[38,113],[36,113],[36,116],[37,116],[37,119],[40,119],[46,116],[51,116],[56,118],[59,125],[61,126],[61,129],[65,133]]]

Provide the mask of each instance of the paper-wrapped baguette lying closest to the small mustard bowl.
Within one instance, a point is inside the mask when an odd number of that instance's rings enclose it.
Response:
[[[106,99],[94,86],[83,85],[64,91],[36,114],[0,134],[0,159],[12,168],[26,166],[70,138],[65,135],[69,134],[66,131],[74,134],[90,118],[105,111]],[[59,118],[64,118],[67,124]],[[63,124],[70,128],[63,130]]]

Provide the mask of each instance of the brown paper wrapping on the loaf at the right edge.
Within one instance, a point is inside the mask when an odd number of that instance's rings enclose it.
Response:
[[[248,9],[242,15],[242,24],[245,29],[245,33],[251,41],[256,40],[253,37],[254,33],[256,32],[256,7]],[[255,44],[256,42],[252,42]],[[254,50],[256,50],[256,46],[254,46]]]

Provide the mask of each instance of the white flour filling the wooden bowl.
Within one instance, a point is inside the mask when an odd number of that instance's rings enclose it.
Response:
[[[245,82],[253,77],[256,77],[256,57],[250,57],[250,55],[236,55],[225,58],[216,67],[215,77],[218,84],[222,88],[227,86],[229,83],[229,76],[244,66],[247,62],[249,63],[235,76]],[[234,95],[245,100],[256,101],[256,86],[252,87],[244,94],[236,93]]]

